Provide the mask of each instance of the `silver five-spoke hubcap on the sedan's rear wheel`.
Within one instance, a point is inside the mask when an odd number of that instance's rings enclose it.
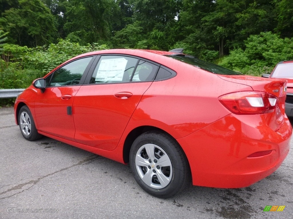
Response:
[[[148,186],[161,189],[172,178],[172,164],[166,152],[154,144],[139,148],[135,157],[135,166],[139,177]]]

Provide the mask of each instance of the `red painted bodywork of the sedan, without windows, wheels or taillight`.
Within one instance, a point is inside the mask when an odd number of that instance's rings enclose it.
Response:
[[[16,99],[16,124],[20,107],[27,105],[40,134],[121,163],[128,162],[130,146],[143,130],[161,130],[182,147],[193,185],[207,187],[249,186],[274,172],[287,156],[292,127],[284,110],[285,80],[214,74],[162,51],[97,51],[64,64],[105,54],[150,60],[172,69],[176,76],[48,87],[43,93],[30,86]],[[237,115],[218,99],[241,91],[270,93],[276,96],[277,107],[270,113]],[[67,106],[72,107],[71,115]]]

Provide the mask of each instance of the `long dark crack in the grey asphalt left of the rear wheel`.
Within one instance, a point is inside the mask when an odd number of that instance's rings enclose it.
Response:
[[[22,193],[22,192],[24,192],[24,191],[26,191],[26,190],[29,190],[31,187],[33,187],[34,185],[36,185],[36,184],[37,184],[40,180],[42,180],[43,178],[46,178],[46,177],[48,177],[48,176],[50,176],[50,175],[54,175],[55,173],[59,173],[59,172],[61,172],[61,171],[67,170],[67,169],[72,168],[72,167],[74,167],[74,166],[78,166],[78,165],[84,164],[84,163],[86,163],[86,162],[88,162],[88,161],[89,161],[88,164],[90,164],[90,163],[93,162],[95,159],[104,159],[104,157],[95,156],[95,157],[92,157],[92,158],[88,158],[88,159],[85,159],[85,160],[83,160],[83,161],[79,161],[77,164],[73,164],[73,165],[71,165],[71,166],[69,166],[69,167],[62,168],[61,170],[55,171],[55,172],[53,172],[53,173],[49,173],[49,174],[47,174],[47,175],[45,175],[45,176],[41,176],[40,178],[38,178],[38,179],[36,179],[36,180],[30,180],[29,182],[21,183],[21,184],[18,184],[18,185],[16,185],[16,186],[13,186],[12,188],[10,188],[10,189],[8,189],[8,190],[6,190],[6,191],[4,191],[4,192],[1,192],[0,195],[5,194],[5,193],[7,193],[7,192],[11,192],[11,191],[13,191],[13,190],[21,189],[21,188],[22,188],[23,186],[25,186],[25,185],[33,184],[33,185],[31,185],[30,187],[28,187],[27,189],[22,190],[21,192],[17,192],[17,193],[15,193],[15,194],[10,195],[10,196],[2,197],[2,198],[0,198],[0,200],[1,200],[1,199],[6,199],[6,198],[10,198],[10,197],[12,197],[12,196],[14,196],[14,195],[16,195],[16,194],[20,194],[20,193]]]

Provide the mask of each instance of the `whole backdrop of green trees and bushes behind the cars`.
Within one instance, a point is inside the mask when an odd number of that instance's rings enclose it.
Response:
[[[293,59],[292,0],[0,2],[0,88],[25,88],[65,60],[104,48],[184,48],[252,75]]]

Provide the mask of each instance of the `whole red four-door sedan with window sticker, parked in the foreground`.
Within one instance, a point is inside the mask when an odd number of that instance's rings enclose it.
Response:
[[[245,75],[180,51],[105,50],[63,63],[18,96],[23,137],[42,135],[130,163],[156,197],[193,185],[237,188],[289,152],[286,81]]]

